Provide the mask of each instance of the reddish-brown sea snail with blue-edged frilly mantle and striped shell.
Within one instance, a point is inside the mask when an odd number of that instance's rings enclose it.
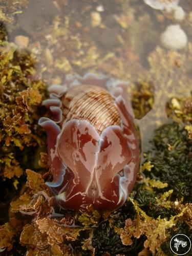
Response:
[[[53,181],[47,185],[63,209],[115,210],[131,193],[139,143],[127,83],[106,76],[67,76],[49,87],[43,104]]]

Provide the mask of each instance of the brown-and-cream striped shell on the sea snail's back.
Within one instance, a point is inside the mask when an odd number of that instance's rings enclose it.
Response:
[[[87,120],[101,134],[110,125],[120,125],[120,115],[112,95],[100,87],[79,86],[62,96],[62,123]]]

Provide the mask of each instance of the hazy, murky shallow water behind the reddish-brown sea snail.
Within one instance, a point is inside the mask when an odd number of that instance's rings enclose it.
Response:
[[[0,39],[33,55],[34,77],[48,87],[62,84],[68,74],[88,72],[129,81],[142,157],[154,130],[170,122],[166,102],[189,97],[192,91],[192,3],[183,0],[179,5],[185,12],[180,23],[173,13],[142,0],[0,0]],[[176,24],[188,42],[181,50],[168,50],[160,36]],[[15,190],[12,180],[2,184],[3,224],[13,200],[6,197],[10,191],[13,197]]]

